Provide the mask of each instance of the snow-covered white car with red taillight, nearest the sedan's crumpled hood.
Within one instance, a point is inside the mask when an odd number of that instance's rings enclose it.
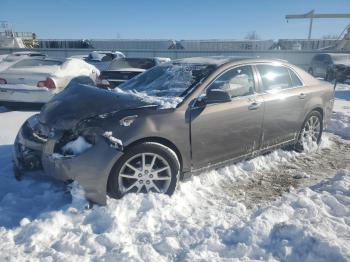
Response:
[[[94,85],[99,73],[80,59],[23,59],[0,72],[0,104],[44,104],[71,81]]]

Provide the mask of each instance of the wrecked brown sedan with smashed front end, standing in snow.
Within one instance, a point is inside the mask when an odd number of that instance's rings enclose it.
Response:
[[[77,84],[30,117],[16,174],[43,169],[106,195],[171,195],[179,180],[275,148],[320,143],[333,87],[279,60],[188,58],[107,91]]]

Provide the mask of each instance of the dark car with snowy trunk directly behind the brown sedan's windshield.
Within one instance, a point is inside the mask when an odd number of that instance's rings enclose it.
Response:
[[[158,58],[115,59],[106,70],[101,71],[97,86],[105,89],[115,88],[160,63]]]

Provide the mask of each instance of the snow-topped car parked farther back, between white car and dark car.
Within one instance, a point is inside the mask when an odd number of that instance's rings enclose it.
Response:
[[[119,51],[92,51],[88,55],[75,55],[72,58],[83,59],[94,65],[100,71],[106,70],[113,59],[124,58],[125,55]]]

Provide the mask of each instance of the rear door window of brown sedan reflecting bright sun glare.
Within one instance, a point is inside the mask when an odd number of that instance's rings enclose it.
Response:
[[[281,90],[293,86],[289,70],[284,66],[257,65],[264,90]]]

